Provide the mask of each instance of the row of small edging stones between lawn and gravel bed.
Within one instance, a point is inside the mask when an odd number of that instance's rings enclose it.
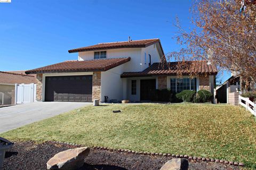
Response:
[[[55,143],[55,144],[61,144],[61,145],[86,147],[85,145],[78,145],[76,143],[60,142],[60,141],[45,141],[43,143]],[[229,164],[229,165],[234,165],[234,166],[244,166],[244,163],[233,162],[233,161],[228,161],[228,160],[223,160],[223,159],[207,158],[207,157],[205,158],[205,157],[196,157],[196,156],[188,156],[188,155],[175,155],[175,154],[169,154],[169,153],[164,153],[163,154],[163,153],[157,153],[157,152],[138,152],[138,151],[134,151],[134,150],[113,149],[113,148],[99,147],[99,146],[92,146],[92,148],[93,149],[101,149],[101,150],[114,151],[114,152],[127,152],[127,153],[131,153],[131,154],[164,156],[164,157],[172,157],[172,158],[186,158],[188,160],[197,160],[197,161],[203,161],[203,162],[215,162],[215,163]]]

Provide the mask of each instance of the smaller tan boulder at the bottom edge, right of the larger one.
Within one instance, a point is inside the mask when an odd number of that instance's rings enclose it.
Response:
[[[173,158],[165,163],[160,170],[188,170],[188,160],[184,158]]]

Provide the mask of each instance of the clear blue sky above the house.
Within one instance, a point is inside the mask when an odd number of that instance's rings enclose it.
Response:
[[[178,16],[189,28],[191,1],[12,0],[0,3],[1,71],[76,60],[68,50],[93,44],[159,38],[165,53],[179,50]],[[222,82],[229,78],[220,74]]]

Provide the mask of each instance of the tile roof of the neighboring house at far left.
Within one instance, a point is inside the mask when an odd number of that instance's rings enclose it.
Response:
[[[15,84],[15,83],[35,83],[36,79],[33,75],[22,75],[17,73],[0,71],[0,84]]]

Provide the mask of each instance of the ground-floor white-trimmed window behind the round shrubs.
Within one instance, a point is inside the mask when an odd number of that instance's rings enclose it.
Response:
[[[179,93],[183,90],[196,91],[196,78],[171,78],[170,90]]]

